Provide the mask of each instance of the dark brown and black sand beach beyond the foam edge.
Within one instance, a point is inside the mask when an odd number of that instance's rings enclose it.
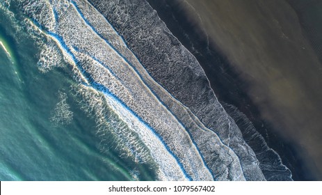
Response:
[[[190,45],[193,52],[198,53],[198,46],[208,48],[206,52],[215,47],[225,57],[214,64],[227,61],[232,68],[225,70],[223,66],[223,78],[218,74],[216,79],[209,78],[217,81],[212,83],[215,92],[216,88],[223,87],[218,86],[220,79],[230,82],[227,86],[236,86],[226,88],[230,94],[223,90],[216,93],[218,98],[222,101],[230,98],[227,102],[237,104],[255,123],[260,116],[272,125],[268,131],[295,148],[297,155],[286,155],[286,158],[289,158],[287,165],[293,166],[290,167],[293,173],[298,171],[294,173],[297,179],[322,180],[322,64],[319,61],[322,39],[318,25],[322,19],[319,17],[321,3],[304,0],[178,0],[171,3],[182,8],[180,11],[188,16],[186,22],[198,29],[195,33],[204,35],[204,45],[196,45],[195,51]],[[208,69],[205,72],[209,77],[211,68]],[[243,84],[234,84],[235,81]],[[247,97],[245,102],[238,102],[243,101],[237,97],[243,93]],[[255,108],[247,109],[252,104]],[[278,152],[282,157],[283,153],[289,153]],[[314,176],[301,176],[307,169],[301,166],[308,167]]]

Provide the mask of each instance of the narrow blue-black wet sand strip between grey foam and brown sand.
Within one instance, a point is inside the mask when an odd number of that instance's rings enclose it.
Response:
[[[241,78],[218,48],[209,44],[203,29],[188,20],[189,16],[180,4],[175,1],[148,2],[174,36],[198,59],[218,100],[234,105],[248,117],[268,146],[280,155],[282,162],[291,170],[293,180],[315,180],[296,152],[298,148],[275,134],[273,126],[260,116],[259,109],[247,94],[248,81]],[[216,66],[212,65],[214,63]]]

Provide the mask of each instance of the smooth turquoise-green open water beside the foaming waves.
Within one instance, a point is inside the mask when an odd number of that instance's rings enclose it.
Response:
[[[40,48],[17,26],[0,9],[0,180],[154,180],[153,164],[97,136],[67,64],[40,72]]]

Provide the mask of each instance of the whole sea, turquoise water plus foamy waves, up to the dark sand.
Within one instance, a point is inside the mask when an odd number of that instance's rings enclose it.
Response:
[[[147,1],[0,3],[1,180],[292,180]]]

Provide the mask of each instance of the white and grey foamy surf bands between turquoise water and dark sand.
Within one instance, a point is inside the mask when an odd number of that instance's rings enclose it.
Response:
[[[159,180],[267,179],[198,61],[146,1],[2,2],[10,3],[42,48],[40,74],[69,64],[77,81],[72,91],[95,117],[102,153],[111,136],[124,156],[155,164]],[[73,120],[61,91],[50,120]],[[274,163],[265,171],[282,166],[291,178],[281,161]]]

